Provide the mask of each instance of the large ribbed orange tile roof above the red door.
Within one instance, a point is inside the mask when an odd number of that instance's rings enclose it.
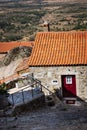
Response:
[[[40,32],[30,66],[87,64],[87,31]]]

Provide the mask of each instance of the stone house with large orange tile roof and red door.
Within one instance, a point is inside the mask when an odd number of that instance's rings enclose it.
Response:
[[[87,31],[37,33],[28,64],[34,78],[66,101],[87,101]]]

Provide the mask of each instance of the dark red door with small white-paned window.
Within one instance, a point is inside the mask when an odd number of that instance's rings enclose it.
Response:
[[[62,76],[63,97],[76,97],[76,78],[75,75]]]

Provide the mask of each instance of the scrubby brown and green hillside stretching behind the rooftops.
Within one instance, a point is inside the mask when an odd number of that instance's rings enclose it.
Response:
[[[34,40],[43,31],[87,30],[87,0],[0,0],[0,41]]]

